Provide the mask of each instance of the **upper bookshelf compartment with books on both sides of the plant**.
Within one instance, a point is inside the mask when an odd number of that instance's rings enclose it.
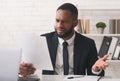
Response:
[[[120,21],[120,9],[78,9],[78,12],[78,20],[81,20],[82,26],[84,25],[84,29],[86,28],[86,34],[97,34],[96,23],[99,21],[106,23],[104,34],[117,34],[117,30],[120,29],[118,22]],[[115,25],[115,32],[111,31],[111,26],[113,25]],[[117,26],[119,26],[119,28]],[[79,28],[80,27],[78,27],[78,29]]]

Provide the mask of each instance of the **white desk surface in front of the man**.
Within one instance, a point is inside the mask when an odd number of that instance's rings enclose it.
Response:
[[[41,81],[97,81],[97,76],[84,76],[81,78],[67,79],[68,76],[62,75],[43,75]],[[120,78],[103,77],[100,81],[120,81]]]

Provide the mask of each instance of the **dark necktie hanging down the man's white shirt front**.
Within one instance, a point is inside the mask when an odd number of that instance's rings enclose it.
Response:
[[[69,61],[68,61],[68,43],[63,42],[63,68],[64,68],[64,75],[68,75],[69,73]]]

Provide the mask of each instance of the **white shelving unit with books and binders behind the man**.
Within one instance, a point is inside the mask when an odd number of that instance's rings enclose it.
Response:
[[[78,32],[95,41],[99,56],[108,53],[109,59],[120,58],[118,51],[120,49],[117,49],[120,43],[120,9],[86,8],[78,9],[78,11]],[[98,34],[97,22],[105,22],[106,28],[103,34]],[[120,62],[120,60],[108,60],[108,62]]]

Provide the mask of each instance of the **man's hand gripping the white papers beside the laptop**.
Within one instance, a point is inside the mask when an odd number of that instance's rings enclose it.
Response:
[[[27,75],[34,74],[36,68],[31,63],[21,63],[19,70],[20,74],[26,77]]]

